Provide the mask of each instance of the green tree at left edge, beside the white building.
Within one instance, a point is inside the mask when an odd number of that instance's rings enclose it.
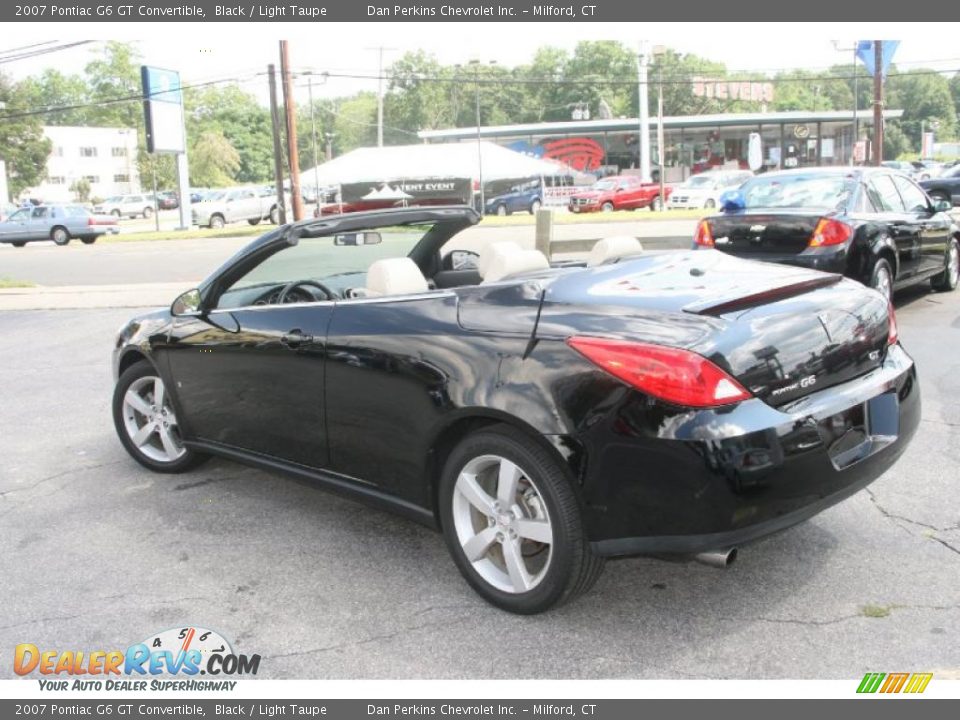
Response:
[[[0,102],[4,103],[0,110],[0,159],[7,165],[7,183],[15,197],[43,180],[52,144],[43,136],[40,115],[21,114],[33,109],[28,94],[2,74]]]

